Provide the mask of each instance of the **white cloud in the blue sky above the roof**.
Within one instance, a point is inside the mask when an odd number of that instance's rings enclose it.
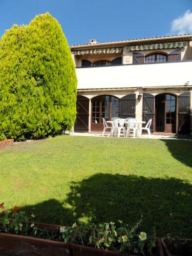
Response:
[[[172,32],[177,34],[192,34],[192,12],[187,10],[185,14],[172,22]]]

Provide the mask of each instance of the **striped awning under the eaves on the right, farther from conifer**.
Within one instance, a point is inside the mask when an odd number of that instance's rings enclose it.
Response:
[[[128,49],[128,51],[159,50],[159,49],[183,48],[186,45],[187,45],[187,42],[173,42],[170,44],[129,46],[129,47],[127,47],[127,49]]]

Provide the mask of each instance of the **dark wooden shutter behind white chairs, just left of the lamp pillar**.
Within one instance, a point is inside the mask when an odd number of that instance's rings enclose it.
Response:
[[[127,94],[119,100],[119,117],[135,117],[136,94]]]

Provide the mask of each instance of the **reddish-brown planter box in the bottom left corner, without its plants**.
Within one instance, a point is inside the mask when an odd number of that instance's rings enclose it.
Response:
[[[56,231],[56,225],[35,223],[42,229]],[[6,256],[70,256],[70,245],[47,239],[0,233],[0,255]]]

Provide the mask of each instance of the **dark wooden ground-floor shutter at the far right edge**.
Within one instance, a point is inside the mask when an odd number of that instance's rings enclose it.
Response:
[[[190,133],[190,92],[179,95],[178,133]]]

